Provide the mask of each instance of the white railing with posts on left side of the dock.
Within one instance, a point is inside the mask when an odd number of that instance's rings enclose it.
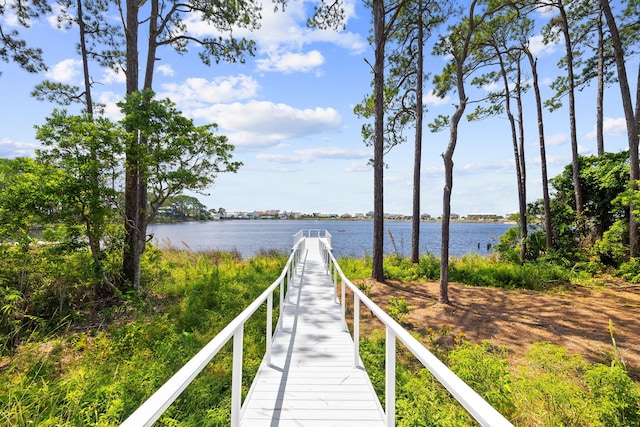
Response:
[[[300,234],[300,236],[299,236]],[[297,237],[296,237],[297,236]],[[195,377],[218,354],[220,349],[233,338],[233,367],[231,374],[231,426],[240,423],[240,409],[242,406],[242,342],[244,338],[244,324],[266,301],[267,327],[265,358],[271,360],[271,342],[273,337],[273,293],[280,289],[280,307],[283,306],[286,290],[291,283],[292,276],[300,261],[304,249],[304,235],[301,232],[294,236],[294,245],[287,264],[280,276],[258,298],[256,298],[242,313],[231,321],[218,335],[189,360],[178,372],[162,385],[149,399],[147,399],[122,424],[123,427],[142,427],[152,425],[162,416],[164,411],[184,391]]]

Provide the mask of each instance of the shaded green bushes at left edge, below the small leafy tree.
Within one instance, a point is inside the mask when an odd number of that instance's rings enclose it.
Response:
[[[5,316],[0,321],[0,352],[27,337],[65,327],[108,304],[111,297],[93,268],[88,251],[60,245],[0,244],[0,289]],[[107,270],[118,268],[107,259]]]

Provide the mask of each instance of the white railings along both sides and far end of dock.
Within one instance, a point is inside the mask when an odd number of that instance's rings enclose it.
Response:
[[[265,359],[271,360],[271,343],[273,337],[273,293],[280,288],[280,307],[283,306],[286,289],[291,283],[292,276],[304,251],[305,238],[318,237],[328,274],[331,274],[334,286],[338,277],[341,282],[342,314],[345,317],[346,288],[354,296],[353,322],[353,358],[356,366],[360,365],[360,302],[364,303],[371,312],[382,321],[386,327],[386,386],[385,413],[388,427],[395,426],[395,360],[396,339],[404,345],[431,371],[440,383],[462,404],[462,406],[483,426],[512,426],[498,411],[489,405],[480,395],[473,391],[464,381],[458,378],[440,360],[431,354],[418,340],[413,338],[402,326],[387,315],[380,307],[362,293],[340,269],[338,262],[331,252],[331,234],[325,230],[305,230],[294,235],[294,246],[282,273],[257,299],[255,299],[242,313],[227,325],[215,338],[176,372],[162,387],[129,416],[121,426],[141,427],[151,426],[171,405],[194,378],[207,366],[220,349],[233,338],[233,367],[231,379],[231,427],[237,427],[240,422],[242,407],[242,342],[244,338],[244,324],[266,301],[267,326]]]

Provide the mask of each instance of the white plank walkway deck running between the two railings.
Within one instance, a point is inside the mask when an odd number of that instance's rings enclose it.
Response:
[[[242,427],[378,427],[385,415],[342,318],[318,238],[307,238],[273,338],[242,406]]]

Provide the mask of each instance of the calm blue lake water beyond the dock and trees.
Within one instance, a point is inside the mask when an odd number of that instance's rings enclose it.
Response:
[[[483,223],[451,223],[449,253],[452,256],[467,253],[487,254],[487,245],[499,241],[511,225]],[[149,232],[153,243],[160,247],[173,245],[194,251],[206,249],[239,251],[250,257],[261,249],[289,251],[293,235],[301,229],[328,230],[333,236],[333,251],[341,256],[361,258],[371,255],[373,221],[322,221],[322,220],[228,220],[211,222],[186,222],[179,224],[153,224]],[[385,252],[396,251],[408,256],[411,251],[411,223],[386,222]],[[423,222],[420,225],[420,252],[440,255],[439,222]],[[390,237],[393,236],[395,248]]]

